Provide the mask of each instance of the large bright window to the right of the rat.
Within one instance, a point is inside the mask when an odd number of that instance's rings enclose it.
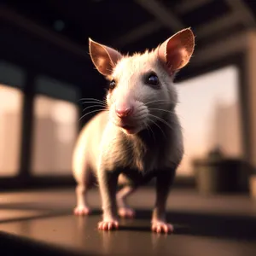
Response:
[[[241,119],[236,67],[224,67],[177,84],[177,114],[183,126],[185,155],[177,173],[193,175],[191,160],[212,148],[241,157]]]

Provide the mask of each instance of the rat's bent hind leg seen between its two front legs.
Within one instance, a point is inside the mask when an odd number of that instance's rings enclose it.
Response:
[[[127,197],[135,192],[137,188],[131,184],[125,185],[124,188],[120,189],[117,193],[117,202],[119,207],[119,216],[122,218],[133,218],[135,211],[127,204]]]

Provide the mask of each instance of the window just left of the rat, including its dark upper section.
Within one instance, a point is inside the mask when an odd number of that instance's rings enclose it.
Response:
[[[33,175],[72,175],[73,146],[79,131],[79,90],[47,76],[35,80]]]

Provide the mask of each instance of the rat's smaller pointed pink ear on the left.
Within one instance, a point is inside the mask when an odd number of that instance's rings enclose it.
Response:
[[[90,58],[96,69],[105,76],[113,72],[113,67],[122,55],[115,49],[98,44],[89,38]]]

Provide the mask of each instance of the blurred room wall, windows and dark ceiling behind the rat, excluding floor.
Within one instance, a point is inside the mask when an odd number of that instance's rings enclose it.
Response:
[[[189,26],[195,54],[175,79],[185,143],[176,184],[203,191],[253,188],[255,1],[4,2],[1,189],[74,185],[73,146],[94,114],[79,120],[84,108],[79,100],[102,99],[106,86],[90,61],[89,37],[132,53],[152,49]]]

